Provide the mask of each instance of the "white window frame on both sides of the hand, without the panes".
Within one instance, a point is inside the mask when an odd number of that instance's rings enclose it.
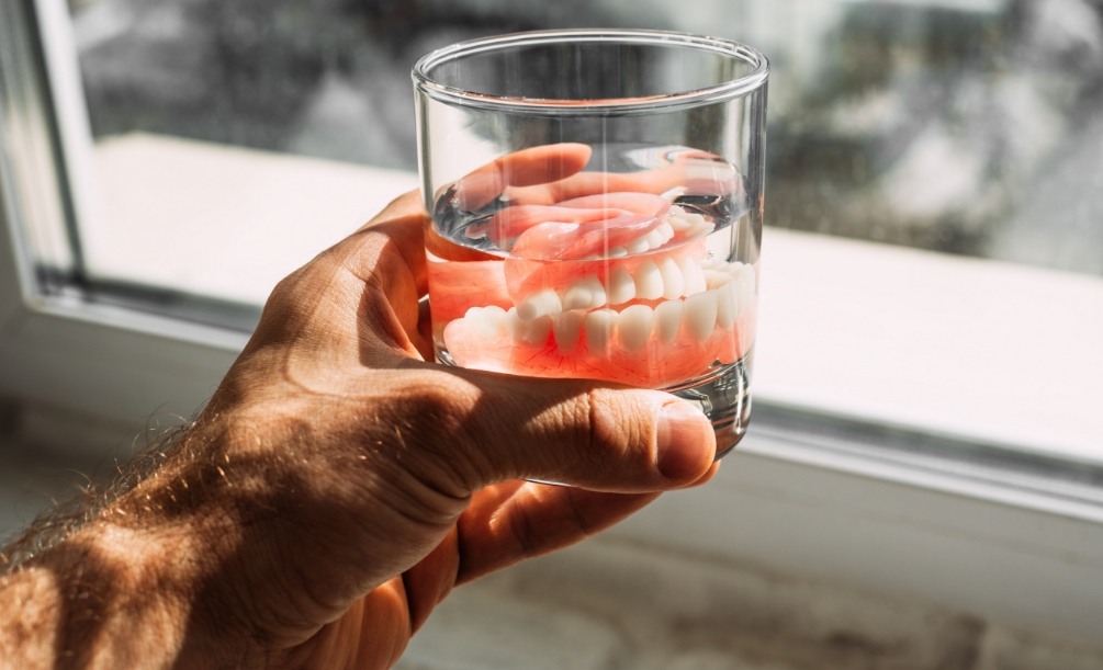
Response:
[[[72,83],[72,62],[45,63],[45,82],[29,65],[33,50],[19,34],[29,20],[25,8],[0,0],[4,76],[12,75],[13,62],[21,63],[18,80],[0,89],[0,395],[136,431],[151,412],[186,417],[211,395],[244,334],[38,290],[18,224],[21,217],[63,215],[60,175],[72,163],[55,160],[57,137],[43,121],[51,100],[60,126],[76,111],[64,105],[81,101],[47,90],[47,84]],[[62,3],[40,0],[38,8],[49,40],[50,30],[64,22]],[[19,141],[11,132],[22,133]],[[39,173],[31,174],[35,165]],[[645,545],[1099,640],[1097,478],[1054,485],[1032,474],[1030,464],[988,458],[994,452],[984,444],[885,431],[785,409],[780,398],[765,400],[717,480],[667,496],[612,532]],[[966,453],[977,460],[962,458]],[[1079,472],[1070,464],[1073,477]]]

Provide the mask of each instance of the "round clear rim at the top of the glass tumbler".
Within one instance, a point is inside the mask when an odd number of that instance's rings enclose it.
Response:
[[[742,61],[753,69],[703,88],[673,91],[646,97],[608,98],[601,100],[578,100],[557,98],[524,98],[495,96],[476,90],[448,86],[437,82],[430,72],[457,58],[499,51],[518,45],[569,43],[613,43],[657,46],[682,46],[728,55]],[[754,47],[740,42],[675,31],[620,30],[620,29],[569,29],[539,30],[480,37],[457,42],[421,56],[415,62],[410,76],[418,91],[443,102],[479,107],[497,111],[517,111],[528,115],[608,115],[646,114],[658,109],[699,107],[713,102],[737,98],[761,88],[769,76],[769,60]]]

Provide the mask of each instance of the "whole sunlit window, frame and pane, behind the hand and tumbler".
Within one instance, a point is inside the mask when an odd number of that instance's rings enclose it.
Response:
[[[1022,620],[1063,580],[1047,625],[1084,633],[1103,602],[1103,10],[683,7],[0,0],[0,391],[137,426],[190,413],[271,284],[416,186],[408,69],[432,47],[719,34],[772,61],[758,404],[732,472],[625,532],[928,580]],[[739,509],[751,547],[709,533],[702,500]],[[932,553],[978,547],[952,575]],[[1005,554],[1041,565],[1021,602],[970,580]],[[913,576],[893,582],[893,558]]]

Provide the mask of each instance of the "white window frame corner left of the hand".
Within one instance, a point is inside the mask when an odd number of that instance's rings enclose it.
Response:
[[[20,225],[33,217],[65,236],[73,225],[65,217],[79,212],[64,193],[83,188],[90,134],[72,50],[56,46],[72,40],[64,11],[53,0],[0,2],[0,253],[10,261],[0,263],[0,392],[125,425],[149,419],[149,398],[164,398],[158,412],[188,417],[246,336],[58,289],[54,274],[65,274],[66,259],[56,271],[35,268]]]

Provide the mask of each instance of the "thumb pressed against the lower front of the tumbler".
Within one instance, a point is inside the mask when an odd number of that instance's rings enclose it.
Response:
[[[716,436],[700,408],[662,391],[451,372],[479,388],[462,411],[463,439],[450,441],[452,457],[471,466],[471,490],[516,478],[603,491],[666,490],[702,478],[716,456]]]

